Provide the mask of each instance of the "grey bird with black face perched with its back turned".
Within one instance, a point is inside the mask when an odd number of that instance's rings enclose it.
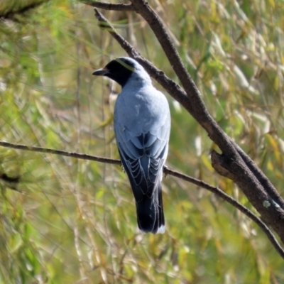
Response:
[[[121,85],[114,105],[114,133],[121,163],[136,202],[138,228],[163,234],[163,166],[168,156],[170,107],[146,70],[134,59],[120,57],[92,73]]]

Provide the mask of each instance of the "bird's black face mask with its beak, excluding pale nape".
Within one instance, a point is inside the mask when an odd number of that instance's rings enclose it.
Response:
[[[134,65],[129,60],[116,58],[107,64],[106,67],[94,71],[93,75],[109,77],[111,80],[124,87],[134,72]]]

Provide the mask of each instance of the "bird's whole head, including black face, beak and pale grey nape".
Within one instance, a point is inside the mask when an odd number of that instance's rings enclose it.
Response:
[[[136,60],[126,57],[111,60],[104,68],[96,70],[92,74],[109,77],[111,80],[119,83],[121,87],[124,87],[130,78],[133,80],[147,80],[151,82],[144,68]]]

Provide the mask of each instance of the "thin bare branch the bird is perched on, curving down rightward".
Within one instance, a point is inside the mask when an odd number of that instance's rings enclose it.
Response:
[[[97,157],[97,156],[93,156],[93,155],[86,155],[86,154],[80,154],[80,153],[74,153],[74,152],[67,152],[67,151],[62,151],[62,150],[55,150],[55,149],[50,149],[50,148],[26,146],[26,145],[13,144],[13,143],[8,143],[8,142],[3,142],[3,141],[0,141],[0,146],[6,147],[6,148],[24,150],[24,151],[48,153],[48,154],[54,154],[54,155],[63,155],[63,156],[66,156],[66,157],[78,158],[78,159],[82,159],[82,160],[94,160],[94,161],[99,162],[99,163],[109,163],[109,164],[114,164],[114,165],[121,165],[120,160],[114,160],[114,159],[110,159],[110,158],[102,158],[102,157]],[[218,195],[219,197],[221,197],[226,202],[229,202],[229,204],[236,207],[236,209],[239,209],[239,211],[243,212],[247,217],[249,217],[249,219],[251,219],[253,222],[255,222],[264,231],[264,233],[266,234],[268,239],[271,241],[271,243],[273,244],[276,251],[278,251],[280,256],[284,259],[284,250],[281,248],[280,244],[278,243],[277,239],[275,239],[275,236],[273,236],[270,229],[268,229],[268,226],[266,226],[266,224],[263,223],[261,221],[261,219],[259,219],[255,214],[253,214],[253,212],[251,212],[249,209],[244,207],[244,205],[242,205],[241,203],[234,200],[233,197],[230,197],[225,192],[220,190],[218,187],[212,187],[211,185],[208,185],[206,182],[203,182],[202,180],[197,180],[196,178],[192,178],[189,175],[184,175],[184,174],[179,173],[175,170],[170,170],[166,166],[163,168],[163,173],[165,173],[165,175],[173,175],[173,177],[175,177],[175,178],[180,178],[181,180],[185,180],[187,182],[191,182],[194,185],[202,187],[205,190],[209,190],[210,192],[214,193],[215,195]]]

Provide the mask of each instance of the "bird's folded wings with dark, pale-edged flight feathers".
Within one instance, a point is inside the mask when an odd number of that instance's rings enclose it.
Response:
[[[151,197],[168,154],[170,124],[159,129],[133,135],[125,126],[116,127],[116,142],[136,202],[143,195]]]

